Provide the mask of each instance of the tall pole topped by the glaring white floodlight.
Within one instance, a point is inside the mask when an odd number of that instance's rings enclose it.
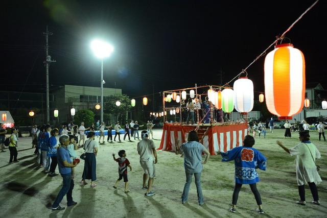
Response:
[[[113,47],[109,43],[95,39],[91,42],[91,49],[95,56],[101,59],[101,122],[103,122],[103,59],[110,56],[113,52]]]

